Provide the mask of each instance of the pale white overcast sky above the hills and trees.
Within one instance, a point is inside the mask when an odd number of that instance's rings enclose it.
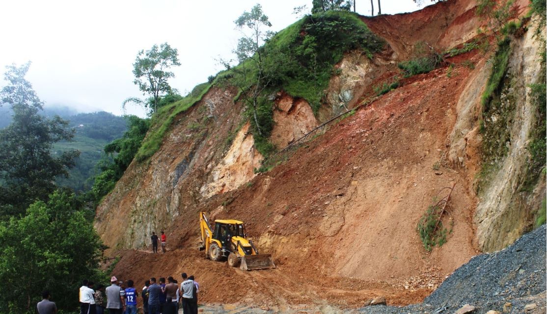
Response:
[[[26,79],[46,106],[121,115],[125,98],[142,96],[131,72],[139,50],[165,42],[177,48],[182,65],[173,69],[170,85],[184,95],[222,70],[215,60],[231,58],[240,36],[234,20],[256,3],[273,31],[298,19],[294,7],[311,8],[311,0],[1,1],[2,76],[8,64],[32,61]],[[385,14],[418,9],[412,0],[381,5]],[[358,0],[356,7],[370,15],[370,1]],[[137,107],[127,113],[144,116]]]

